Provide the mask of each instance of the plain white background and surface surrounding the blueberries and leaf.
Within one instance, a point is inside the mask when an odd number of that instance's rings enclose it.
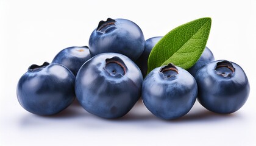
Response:
[[[165,121],[137,103],[123,118],[107,120],[75,102],[43,117],[16,99],[16,84],[31,64],[87,46],[101,20],[130,19],[148,39],[205,16],[212,18],[207,46],[216,60],[240,64],[251,84],[236,113],[213,114],[196,102],[186,116]],[[0,0],[0,145],[256,145],[255,41],[256,1]]]

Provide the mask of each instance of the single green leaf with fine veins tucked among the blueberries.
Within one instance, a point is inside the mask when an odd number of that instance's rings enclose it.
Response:
[[[168,32],[149,54],[148,73],[169,63],[191,68],[204,51],[211,24],[211,18],[200,18]]]

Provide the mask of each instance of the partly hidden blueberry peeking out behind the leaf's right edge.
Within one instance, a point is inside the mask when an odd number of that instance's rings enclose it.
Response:
[[[215,58],[213,56],[212,51],[208,49],[208,47],[205,47],[199,60],[197,60],[196,64],[194,64],[190,69],[188,69],[188,72],[190,72],[190,74],[193,75],[193,77],[195,77],[196,72],[198,71],[199,68],[201,68],[204,64],[214,60]]]

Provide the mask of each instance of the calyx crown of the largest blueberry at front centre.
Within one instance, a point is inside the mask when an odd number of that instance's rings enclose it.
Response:
[[[127,72],[126,64],[119,57],[107,58],[104,70],[114,77],[123,77]]]

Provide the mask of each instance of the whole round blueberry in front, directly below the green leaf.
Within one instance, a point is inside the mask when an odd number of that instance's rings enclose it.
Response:
[[[197,84],[194,77],[173,64],[153,69],[142,84],[144,105],[152,114],[165,120],[187,114],[196,96]]]

